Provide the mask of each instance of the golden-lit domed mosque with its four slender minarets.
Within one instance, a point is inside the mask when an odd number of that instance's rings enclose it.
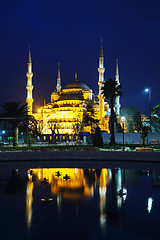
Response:
[[[38,129],[42,134],[49,134],[50,137],[54,133],[58,134],[76,134],[77,126],[83,123],[83,114],[87,109],[87,105],[92,106],[94,110],[94,118],[99,120],[99,127],[103,131],[109,132],[109,104],[105,102],[101,88],[104,84],[104,56],[101,40],[100,56],[99,56],[99,93],[98,96],[83,82],[80,82],[75,73],[74,81],[62,87],[60,64],[58,64],[58,75],[56,89],[51,94],[51,102],[41,106],[37,113],[33,113],[33,85],[32,85],[32,61],[29,48],[28,56],[28,72],[27,76],[27,106],[30,115],[33,115],[38,122]],[[116,62],[115,79],[119,83],[118,60]],[[120,114],[120,98],[115,99],[115,112]],[[83,132],[91,132],[90,126],[85,126]],[[78,129],[77,129],[78,133]]]

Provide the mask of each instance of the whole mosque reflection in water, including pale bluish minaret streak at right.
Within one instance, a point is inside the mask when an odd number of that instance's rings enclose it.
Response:
[[[99,193],[99,222],[101,229],[106,227],[107,187],[111,183],[114,202],[121,208],[127,197],[124,187],[124,170],[116,169],[78,169],[43,168],[27,170],[26,218],[28,230],[32,223],[33,190],[41,189],[40,201],[43,204],[56,199],[57,210],[61,214],[63,200],[80,202],[90,200],[95,192]],[[111,181],[112,180],[112,181]]]

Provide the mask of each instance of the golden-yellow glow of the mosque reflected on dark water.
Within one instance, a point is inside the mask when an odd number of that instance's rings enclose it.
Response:
[[[58,215],[61,214],[62,199],[69,201],[89,200],[94,197],[94,190],[99,185],[100,225],[104,231],[106,226],[106,192],[111,180],[110,169],[77,169],[77,168],[43,168],[29,169],[26,188],[26,219],[27,229],[30,231],[32,222],[33,185],[35,182],[44,186],[49,185],[50,196],[43,195],[41,202],[50,203],[57,199]],[[120,186],[119,186],[120,187]],[[78,212],[77,212],[78,213]]]

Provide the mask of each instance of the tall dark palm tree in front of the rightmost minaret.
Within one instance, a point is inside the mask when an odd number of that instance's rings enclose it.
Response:
[[[110,144],[115,144],[115,134],[114,134],[114,123],[116,122],[116,114],[114,112],[114,100],[115,97],[121,96],[122,91],[121,91],[121,84],[118,83],[116,80],[113,79],[108,79],[104,83],[104,86],[102,87],[102,94],[104,95],[105,98],[110,99],[110,107],[111,107],[111,115],[110,115],[110,132],[111,132],[111,140]]]

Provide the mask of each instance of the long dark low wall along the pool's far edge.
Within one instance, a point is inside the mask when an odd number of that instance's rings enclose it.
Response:
[[[159,162],[160,152],[120,152],[120,151],[62,151],[62,152],[0,152],[0,162],[21,161],[127,161]]]

